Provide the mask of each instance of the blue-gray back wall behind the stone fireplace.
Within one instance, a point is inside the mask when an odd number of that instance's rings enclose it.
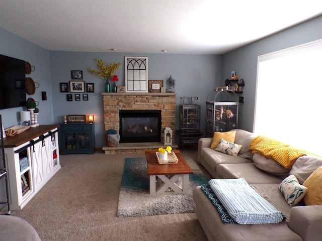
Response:
[[[104,120],[102,92],[105,81],[87,72],[89,67],[97,68],[94,59],[104,60],[106,65],[112,62],[122,63],[115,71],[118,86],[125,85],[124,57],[147,56],[148,77],[150,80],[176,80],[176,101],[180,104],[181,96],[197,96],[201,104],[201,130],[205,129],[205,102],[207,93],[215,88],[215,80],[221,76],[221,56],[219,55],[178,55],[178,54],[133,54],[133,53],[93,53],[93,52],[50,52],[51,80],[53,89],[54,122],[61,123],[68,114],[94,114],[96,147],[104,146]],[[66,101],[66,93],[59,92],[60,82],[69,82],[71,70],[83,70],[85,83],[95,84],[95,93],[88,93],[89,100]],[[82,95],[83,93],[81,93]],[[179,106],[177,107],[177,127],[179,127]],[[175,131],[175,130],[173,130]]]

